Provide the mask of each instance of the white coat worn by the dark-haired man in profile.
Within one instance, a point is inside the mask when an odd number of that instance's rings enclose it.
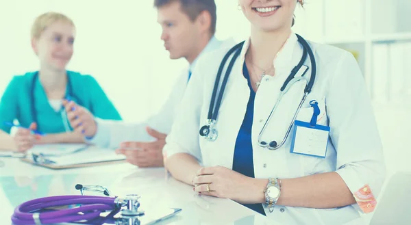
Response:
[[[206,47],[201,51],[200,55],[195,59],[192,64],[182,71],[177,81],[175,81],[173,90],[167,98],[164,105],[162,105],[158,114],[151,116],[147,121],[140,123],[129,123],[118,120],[101,120],[96,118],[97,133],[91,139],[87,139],[86,142],[90,144],[96,144],[101,147],[117,148],[121,142],[150,142],[155,140],[151,137],[146,127],[151,127],[160,133],[170,133],[171,125],[173,124],[173,118],[175,116],[175,110],[178,104],[182,100],[186,86],[188,83],[188,71],[193,70],[198,62],[198,59],[202,55],[215,51],[216,49],[225,49],[226,47],[234,44],[233,39],[217,40],[212,37]]]

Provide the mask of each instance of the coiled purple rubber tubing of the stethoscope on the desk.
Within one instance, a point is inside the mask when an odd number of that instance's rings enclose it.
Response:
[[[20,204],[14,210],[12,222],[16,225],[54,224],[63,222],[76,222],[79,220],[92,220],[99,217],[105,210],[116,208],[115,198],[101,196],[52,196],[38,198]],[[62,209],[47,213],[40,213],[38,221],[35,220],[33,211],[49,207],[59,207],[71,204],[83,204],[73,209]],[[84,213],[83,215],[79,214]]]

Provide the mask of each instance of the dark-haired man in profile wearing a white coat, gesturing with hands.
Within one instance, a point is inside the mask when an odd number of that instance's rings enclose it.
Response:
[[[99,120],[73,102],[65,103],[71,126],[84,133],[86,141],[101,147],[118,148],[127,161],[139,167],[164,166],[162,148],[166,134],[171,131],[177,105],[181,101],[191,71],[203,53],[231,47],[234,41],[221,42],[214,37],[216,4],[214,0],[155,0],[161,39],[171,59],[184,57],[190,66],[179,77],[157,115],[147,122],[127,124]],[[72,111],[75,107],[75,110]]]

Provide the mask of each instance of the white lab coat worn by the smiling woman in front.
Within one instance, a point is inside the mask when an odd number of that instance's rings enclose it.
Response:
[[[351,192],[369,184],[377,197],[384,181],[385,164],[377,125],[364,79],[353,55],[342,49],[309,42],[317,65],[316,80],[297,120],[310,122],[312,107],[309,101],[319,102],[321,114],[318,124],[331,128],[325,159],[290,153],[292,135],[278,150],[258,146],[260,133],[266,118],[277,101],[279,88],[297,65],[302,47],[292,34],[273,62],[275,77],[266,75],[256,92],[253,127],[253,165],[256,178],[297,178],[311,174],[336,171]],[[203,166],[225,166],[232,169],[234,147],[249,100],[247,79],[242,66],[249,41],[245,42],[236,60],[224,93],[217,118],[219,137],[209,142],[199,136],[199,129],[206,124],[210,98],[216,71],[228,49],[215,51],[200,59],[194,77],[179,107],[171,133],[166,139],[164,152],[167,157],[188,153]],[[228,62],[227,62],[228,64]],[[306,62],[310,66],[310,62]],[[308,70],[307,75],[310,75]],[[292,98],[289,95],[287,98]],[[292,100],[300,101],[301,96]],[[290,100],[283,98],[283,102]],[[284,109],[285,110],[285,109]],[[292,111],[279,111],[275,130],[284,131],[289,122],[281,118],[292,116]],[[273,120],[275,120],[273,118]],[[303,188],[303,187],[301,187]],[[264,207],[266,215],[280,224],[343,224],[360,216],[358,204],[339,209],[306,209],[275,206],[273,213]]]

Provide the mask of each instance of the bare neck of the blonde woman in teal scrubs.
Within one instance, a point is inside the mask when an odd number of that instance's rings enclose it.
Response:
[[[47,94],[66,91],[66,70],[53,70],[42,66],[40,71],[38,71],[38,78]]]

